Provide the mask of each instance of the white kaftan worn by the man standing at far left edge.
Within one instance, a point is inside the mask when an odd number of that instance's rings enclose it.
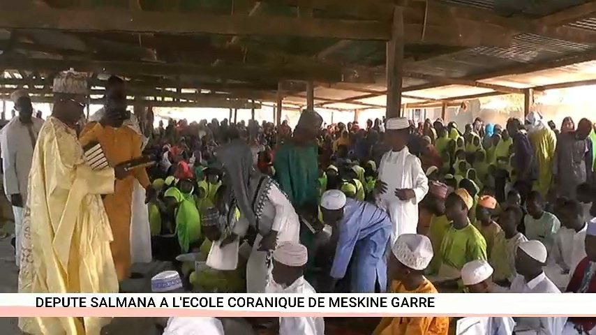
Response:
[[[27,185],[33,149],[43,120],[31,118],[31,124],[23,124],[18,117],[13,117],[0,133],[0,151],[4,171],[4,192],[10,195],[20,194],[23,205],[27,203]],[[15,261],[17,267],[21,259],[23,208],[13,206],[15,216]]]

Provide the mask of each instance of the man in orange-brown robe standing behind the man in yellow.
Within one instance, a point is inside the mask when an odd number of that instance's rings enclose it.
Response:
[[[80,142],[83,146],[99,142],[107,161],[117,165],[141,156],[142,139],[131,128],[122,126],[130,119],[126,111],[126,93],[124,81],[121,85],[112,84],[106,91],[105,113],[99,122],[90,122],[85,126]],[[131,203],[134,181],[137,179],[145,189],[149,188],[149,177],[144,168],[131,170],[128,176],[116,182],[113,194],[103,198],[107,217],[114,234],[112,256],[119,281],[128,278],[131,268]]]

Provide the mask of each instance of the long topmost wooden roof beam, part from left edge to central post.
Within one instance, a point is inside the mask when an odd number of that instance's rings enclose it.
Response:
[[[31,20],[36,17],[36,20]],[[247,17],[203,13],[132,12],[117,9],[3,8],[2,28],[64,31],[126,31],[131,33],[304,36],[388,40],[389,24],[363,20],[325,20],[294,17]]]

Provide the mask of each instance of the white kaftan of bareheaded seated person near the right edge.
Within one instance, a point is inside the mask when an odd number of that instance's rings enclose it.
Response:
[[[583,225],[583,229],[576,232],[561,227],[555,234],[553,248],[549,252],[549,261],[544,272],[558,288],[567,288],[575,267],[583,258],[586,258],[584,244],[587,228],[588,225]]]

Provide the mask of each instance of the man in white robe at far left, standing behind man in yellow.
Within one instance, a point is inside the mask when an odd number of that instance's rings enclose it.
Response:
[[[15,216],[15,260],[20,264],[23,207],[27,203],[27,185],[33,149],[43,121],[33,117],[31,98],[25,91],[15,91],[10,98],[18,117],[11,119],[0,135],[4,192],[13,206]]]

